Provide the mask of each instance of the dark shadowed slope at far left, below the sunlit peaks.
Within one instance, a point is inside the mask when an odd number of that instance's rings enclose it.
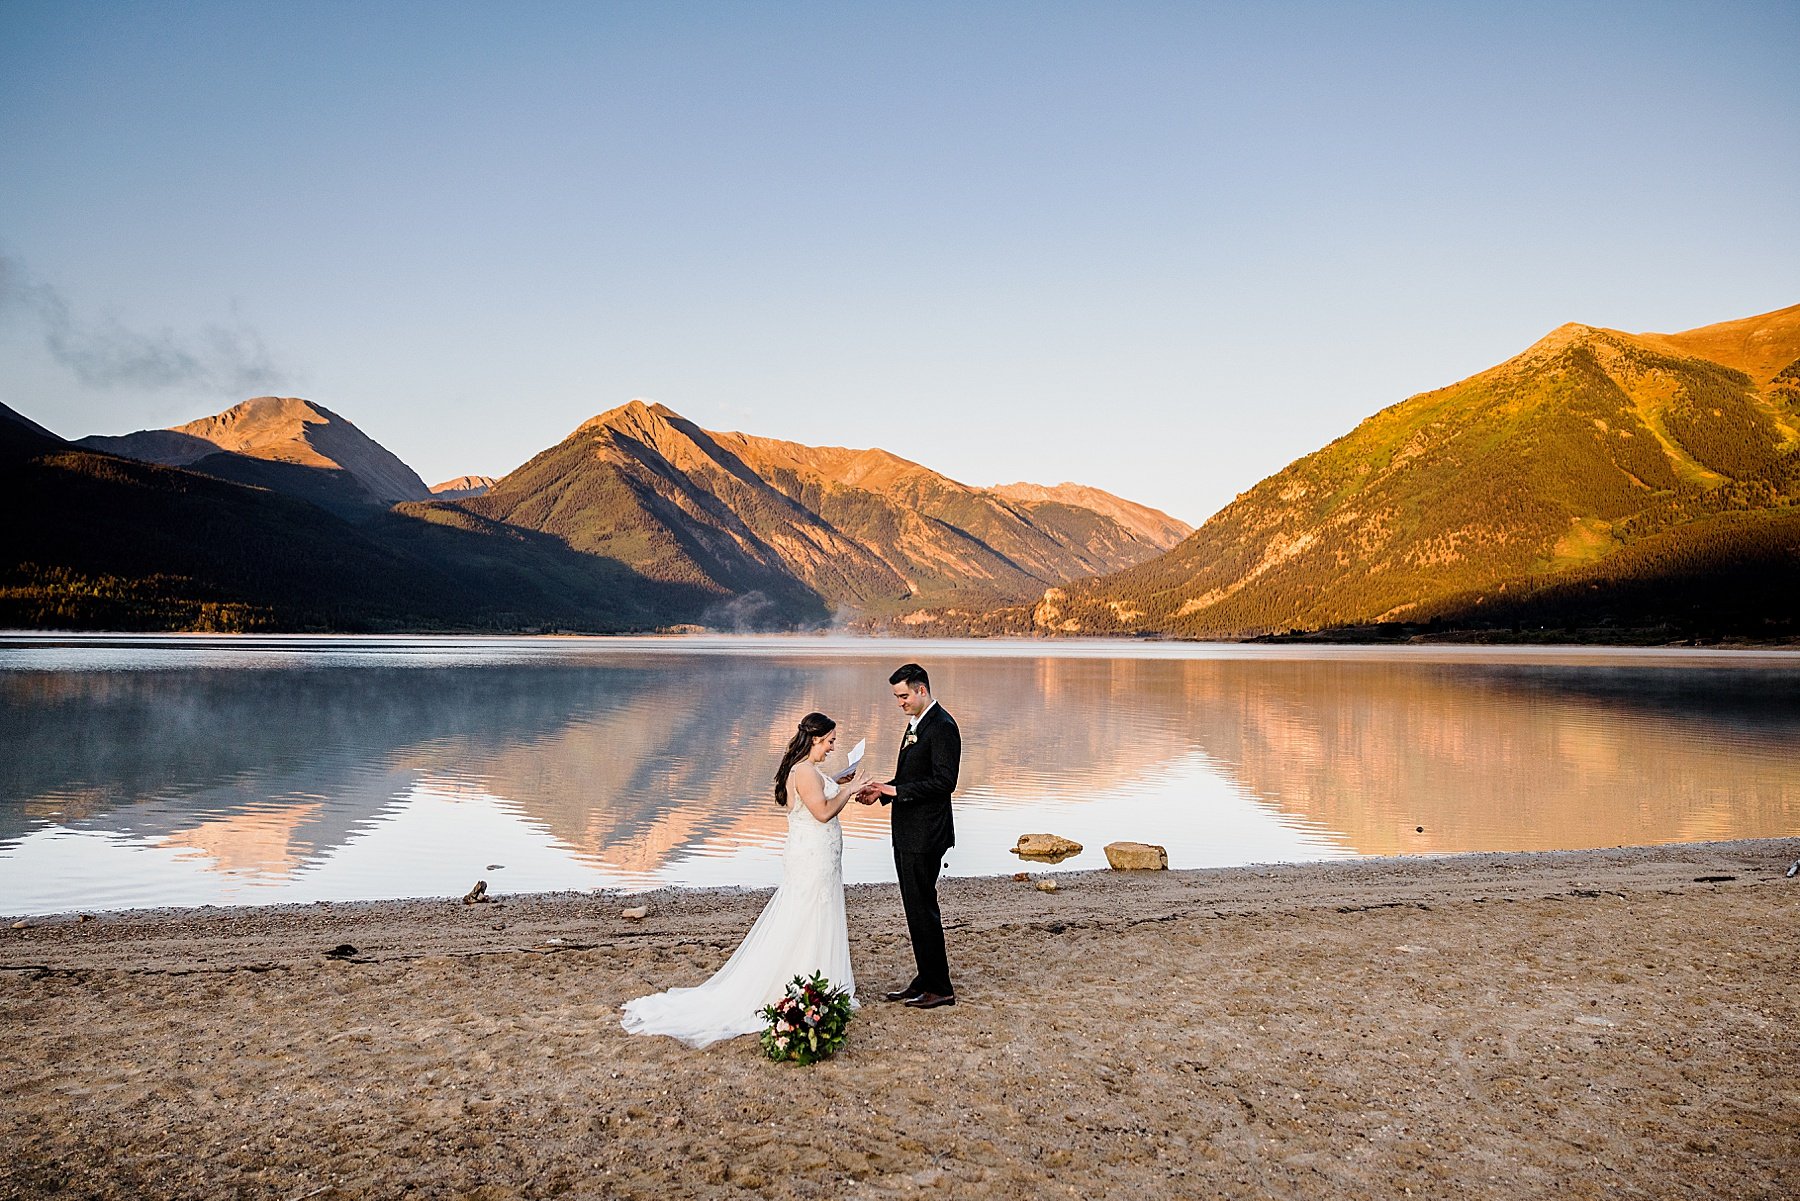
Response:
[[[0,506],[16,515],[0,524],[0,627],[644,630],[698,612],[688,591],[527,529],[382,510],[349,522],[0,416]]]

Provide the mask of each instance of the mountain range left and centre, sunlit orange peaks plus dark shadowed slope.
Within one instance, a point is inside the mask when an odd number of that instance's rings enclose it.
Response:
[[[792,628],[922,592],[1033,596],[1174,542],[1105,493],[1087,501],[1139,529],[641,402],[504,481],[450,481],[455,501],[302,400],[79,445],[0,416],[4,499],[27,515],[0,544],[0,619],[27,627]]]

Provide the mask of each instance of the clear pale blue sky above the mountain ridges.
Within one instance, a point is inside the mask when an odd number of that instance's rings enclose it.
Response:
[[[1800,303],[1800,4],[0,4],[0,400],[427,483],[632,396],[1199,522]]]

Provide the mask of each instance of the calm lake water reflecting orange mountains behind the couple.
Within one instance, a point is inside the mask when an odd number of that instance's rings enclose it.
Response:
[[[794,720],[886,774],[909,657],[967,738],[958,875],[1044,870],[1026,832],[1060,870],[1800,834],[1795,655],[9,636],[0,911],[772,884]],[[893,879],[884,810],[844,834]]]

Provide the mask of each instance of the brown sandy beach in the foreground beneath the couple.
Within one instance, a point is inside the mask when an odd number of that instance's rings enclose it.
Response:
[[[952,879],[934,1012],[875,999],[911,958],[859,886],[866,1007],[810,1070],[614,1016],[767,893],[32,918],[0,929],[0,1196],[1787,1196],[1796,855]]]

